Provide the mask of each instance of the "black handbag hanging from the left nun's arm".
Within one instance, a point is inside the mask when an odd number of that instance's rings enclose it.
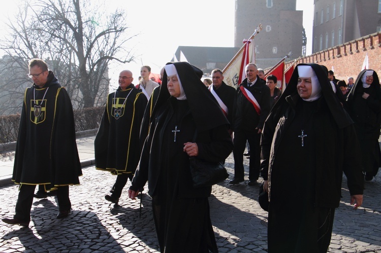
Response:
[[[197,131],[193,142],[196,140]],[[228,178],[223,162],[208,162],[197,157],[189,157],[190,174],[192,174],[193,187],[210,187]]]

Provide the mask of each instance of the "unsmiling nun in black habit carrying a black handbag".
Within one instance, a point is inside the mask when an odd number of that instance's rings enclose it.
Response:
[[[229,122],[187,62],[167,63],[129,196],[148,179],[162,252],[217,252],[209,215],[211,187],[193,188],[189,157],[224,161],[233,149]],[[196,141],[194,141],[197,133]]]

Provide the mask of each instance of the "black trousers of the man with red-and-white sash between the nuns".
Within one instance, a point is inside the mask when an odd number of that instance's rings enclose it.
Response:
[[[243,179],[243,153],[246,148],[246,140],[250,147],[250,160],[249,160],[249,180],[257,180],[261,167],[261,134],[258,130],[255,131],[237,131],[234,132],[234,177]]]

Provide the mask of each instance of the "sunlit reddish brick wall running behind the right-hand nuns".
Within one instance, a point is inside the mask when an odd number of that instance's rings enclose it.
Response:
[[[362,70],[366,54],[368,54],[369,69],[375,70],[378,77],[381,77],[381,32],[313,53],[300,58],[298,63],[313,62],[325,65],[328,70],[331,70],[333,66],[336,79],[343,79],[346,82],[348,77],[356,80]],[[293,62],[286,62],[285,69]]]

